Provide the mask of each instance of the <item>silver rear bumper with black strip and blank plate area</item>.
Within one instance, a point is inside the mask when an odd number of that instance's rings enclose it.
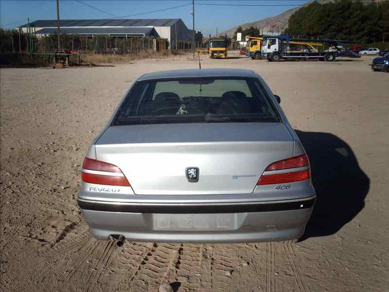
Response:
[[[257,242],[302,236],[316,196],[237,204],[134,204],[80,200],[97,239],[124,235],[132,241]]]

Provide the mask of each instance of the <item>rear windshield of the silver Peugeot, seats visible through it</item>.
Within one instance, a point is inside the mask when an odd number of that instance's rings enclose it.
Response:
[[[280,122],[256,78],[180,78],[137,82],[112,125]]]

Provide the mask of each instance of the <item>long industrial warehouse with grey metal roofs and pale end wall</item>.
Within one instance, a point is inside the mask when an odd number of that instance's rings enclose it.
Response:
[[[55,34],[57,20],[36,20],[20,27],[23,32],[27,26],[35,26],[37,36]],[[176,41],[192,40],[189,30],[180,18],[173,19],[63,19],[60,20],[61,34],[77,34],[93,37],[108,35],[110,37],[156,37],[168,39],[169,44]],[[201,33],[200,33],[201,34]],[[196,35],[196,39],[199,38]],[[199,38],[200,39],[200,38]]]

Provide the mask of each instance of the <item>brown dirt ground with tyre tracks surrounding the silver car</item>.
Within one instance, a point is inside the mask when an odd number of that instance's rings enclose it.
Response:
[[[336,62],[210,60],[263,76],[298,131],[318,201],[296,245],[93,239],[76,203],[81,164],[141,74],[190,56],[115,67],[1,69],[0,291],[389,291],[389,74]]]

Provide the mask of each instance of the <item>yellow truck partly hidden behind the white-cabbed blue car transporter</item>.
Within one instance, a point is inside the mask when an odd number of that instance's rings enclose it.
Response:
[[[261,49],[264,37],[246,37],[246,56],[251,59],[261,59]],[[286,45],[286,41],[284,41]],[[317,47],[321,47],[323,44],[314,41],[289,41],[289,47],[287,51],[293,51],[294,53],[312,52],[317,53]]]

